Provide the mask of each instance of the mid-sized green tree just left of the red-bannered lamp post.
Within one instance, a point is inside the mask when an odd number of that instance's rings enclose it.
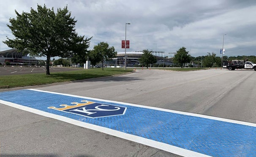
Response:
[[[114,51],[114,47],[109,47],[109,44],[104,42],[95,45],[91,53],[93,56],[95,56],[93,59],[101,59],[100,61],[102,63],[102,70],[104,61],[110,61],[117,56],[117,52]]]

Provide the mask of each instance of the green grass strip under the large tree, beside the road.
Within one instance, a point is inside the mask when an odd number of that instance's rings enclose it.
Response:
[[[25,74],[25,75],[5,75],[0,76],[0,88],[14,88],[28,85],[43,85],[55,82],[65,82],[74,80],[83,80],[103,76],[112,76],[132,72],[133,69],[121,68],[93,68],[69,72],[51,72],[51,75],[42,74]]]

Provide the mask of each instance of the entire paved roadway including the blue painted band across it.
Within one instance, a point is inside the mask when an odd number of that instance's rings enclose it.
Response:
[[[7,93],[9,97],[5,97],[7,105],[0,100],[0,155],[255,156],[255,76],[256,72],[248,70],[170,72],[137,69],[122,76],[29,87],[38,89],[35,94],[12,89],[14,93]],[[4,98],[4,93],[0,93],[0,99]],[[74,119],[79,116],[77,114],[54,109],[63,107],[61,104],[78,103],[82,105],[80,111],[95,114],[95,110],[83,106],[85,102],[82,100],[106,105],[111,102],[116,107],[125,106],[127,109],[119,117],[81,116],[79,120]],[[19,108],[14,108],[15,104]],[[33,109],[34,106],[47,112]],[[104,109],[104,106],[98,107]],[[28,108],[30,112],[27,112]],[[153,112],[147,112],[147,109]],[[37,112],[31,113],[32,110]],[[74,111],[77,112],[76,109]],[[69,117],[65,117],[66,114]],[[89,128],[89,125],[94,128]],[[107,128],[109,126],[112,128]],[[187,129],[188,126],[190,129]],[[97,128],[99,130],[95,131]],[[154,133],[159,136],[153,136]],[[142,140],[135,142],[138,139]],[[169,139],[172,141],[168,142]],[[166,145],[166,141],[168,148],[175,146],[197,154],[180,154],[176,149],[160,148]],[[150,145],[154,142],[157,144]]]

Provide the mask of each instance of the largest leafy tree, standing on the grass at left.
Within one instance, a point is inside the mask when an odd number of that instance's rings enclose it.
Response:
[[[49,62],[51,57],[70,57],[76,53],[76,45],[86,42],[84,36],[75,32],[76,20],[71,17],[68,7],[57,9],[37,5],[37,10],[31,8],[30,13],[18,13],[16,19],[9,19],[15,39],[5,40],[3,43],[19,52],[30,53],[31,56],[46,57],[46,75],[50,75]]]

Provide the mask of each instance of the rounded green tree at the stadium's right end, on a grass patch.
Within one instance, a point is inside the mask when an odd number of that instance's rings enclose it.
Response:
[[[180,64],[180,66],[183,68],[183,64],[189,63],[191,61],[191,56],[188,54],[188,51],[186,51],[186,48],[182,47],[174,55],[174,62],[177,64]]]

